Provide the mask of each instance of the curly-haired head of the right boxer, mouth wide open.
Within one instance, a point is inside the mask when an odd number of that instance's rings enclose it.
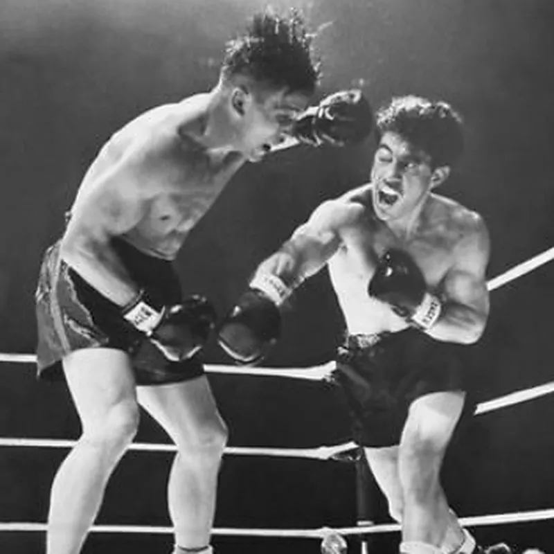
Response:
[[[375,116],[373,206],[382,220],[400,219],[443,184],[463,153],[461,117],[446,102],[393,98]]]

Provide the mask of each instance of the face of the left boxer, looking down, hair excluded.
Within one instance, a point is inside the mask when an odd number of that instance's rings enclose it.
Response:
[[[303,93],[280,90],[244,93],[242,100],[242,106],[235,107],[239,116],[237,146],[250,161],[260,161],[271,147],[285,139],[309,98]]]

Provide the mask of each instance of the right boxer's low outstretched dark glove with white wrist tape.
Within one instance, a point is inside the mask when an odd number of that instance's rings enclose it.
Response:
[[[218,342],[238,364],[256,364],[278,341],[281,332],[279,305],[290,294],[280,278],[257,276],[223,321]]]

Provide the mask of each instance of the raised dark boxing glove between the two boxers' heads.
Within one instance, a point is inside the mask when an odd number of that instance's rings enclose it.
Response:
[[[321,100],[298,116],[292,136],[319,146],[347,146],[360,143],[373,129],[373,112],[360,90],[340,91]]]

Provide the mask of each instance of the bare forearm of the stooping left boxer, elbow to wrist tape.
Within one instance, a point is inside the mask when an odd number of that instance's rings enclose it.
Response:
[[[91,287],[117,305],[125,306],[139,294],[109,241],[64,240],[61,256]]]

